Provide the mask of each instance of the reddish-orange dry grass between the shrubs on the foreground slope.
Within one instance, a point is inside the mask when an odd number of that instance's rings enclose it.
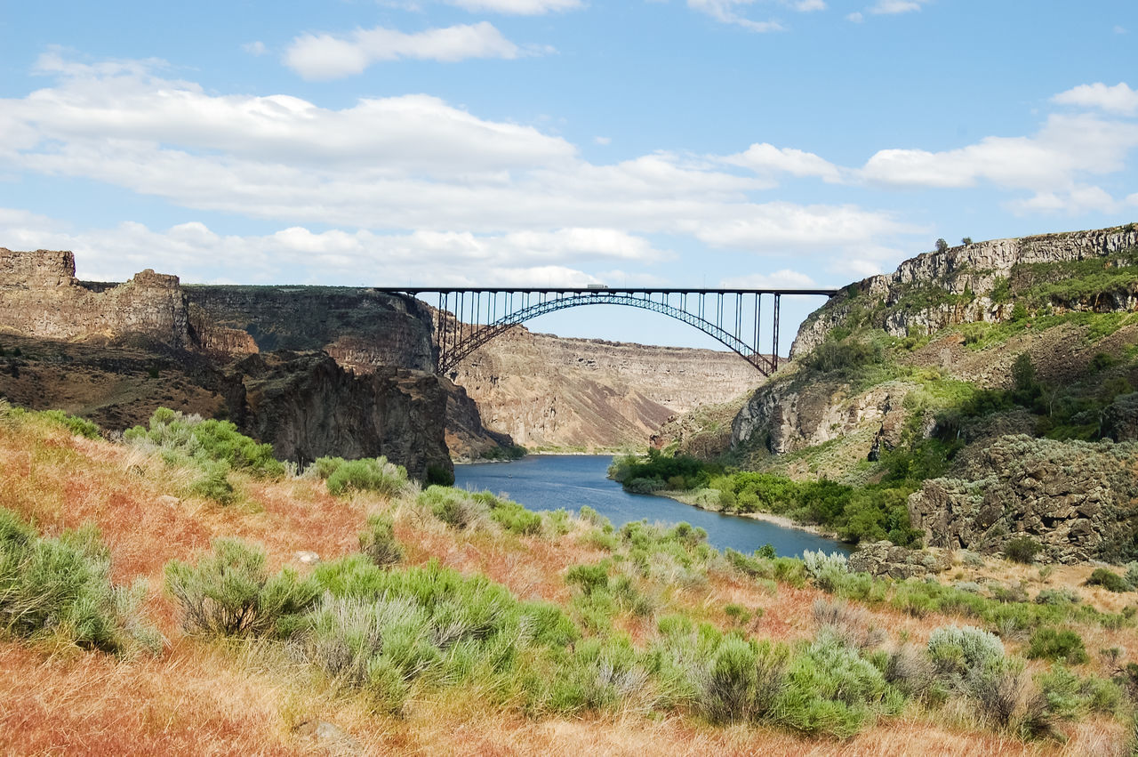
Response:
[[[0,752],[40,754],[321,754],[303,735],[305,723],[329,721],[351,733],[361,754],[398,755],[1113,755],[1124,754],[1127,729],[1115,719],[1092,718],[1064,726],[1066,743],[1025,743],[1011,735],[978,731],[966,716],[906,714],[844,741],[803,740],[765,727],[712,727],[682,716],[642,715],[528,719],[477,692],[442,690],[414,694],[399,717],[377,713],[362,696],[337,692],[311,668],[279,649],[207,644],[185,639],[178,609],[160,591],[171,559],[193,559],[220,535],[237,535],[266,549],[271,566],[299,567],[294,553],[323,559],[352,552],[369,513],[390,511],[406,560],[437,559],[462,573],[481,573],[523,599],[568,602],[568,567],[607,557],[579,540],[586,526],[566,537],[517,536],[497,529],[456,532],[411,503],[381,497],[333,499],[319,482],[240,479],[246,502],[223,508],[180,496],[185,482],[176,471],[130,447],[73,438],[46,423],[13,428],[0,419],[0,504],[48,534],[98,525],[113,554],[114,579],[150,581],[143,608],[168,641],[152,658],[119,660],[97,652],[0,643]],[[176,501],[171,495],[178,496]],[[953,570],[971,570],[956,566]],[[987,571],[987,573],[984,573]],[[1000,573],[1004,571],[1004,573]],[[1046,585],[1074,584],[1079,569],[1056,569]],[[1038,568],[989,563],[968,574],[1042,584]],[[760,637],[811,637],[814,602],[827,596],[813,589],[780,585],[770,592],[726,569],[690,586],[642,582],[658,603],[657,615],[683,611],[728,628],[728,603],[761,609],[745,625]],[[1038,584],[1038,585],[1037,585]],[[1121,609],[1130,600],[1099,596],[1081,587],[1087,601]],[[904,632],[923,642],[943,616],[913,618],[871,608],[873,622],[896,640]],[[617,625],[635,643],[651,641],[655,616],[621,615]],[[1138,649],[1133,628],[1080,627],[1087,648]],[[1098,663],[1085,668],[1098,669]]]

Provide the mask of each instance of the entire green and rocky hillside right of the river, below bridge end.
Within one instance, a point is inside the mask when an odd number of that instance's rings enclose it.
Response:
[[[1133,559],[1136,311],[1135,224],[946,245],[811,314],[729,449],[707,443],[723,421],[704,413],[684,437],[703,443],[677,438],[703,462],[629,459],[616,475],[853,543]]]

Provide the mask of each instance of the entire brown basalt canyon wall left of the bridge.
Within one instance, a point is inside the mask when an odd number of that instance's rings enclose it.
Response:
[[[68,252],[0,248],[0,331],[22,346],[0,394],[28,406],[121,430],[166,405],[230,418],[300,463],[384,454],[420,478],[451,467],[453,388],[429,372],[430,314],[409,297],[182,287],[154,271],[83,282]]]

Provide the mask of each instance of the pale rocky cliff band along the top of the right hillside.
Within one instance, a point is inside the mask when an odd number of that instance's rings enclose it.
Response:
[[[1011,318],[1013,304],[995,302],[993,287],[1017,265],[1062,263],[1132,250],[1138,247],[1135,224],[1096,231],[993,239],[925,253],[901,263],[893,273],[851,283],[799,327],[791,357],[809,353],[830,331],[858,311],[897,337],[978,321]],[[1118,293],[1111,302],[1057,303],[1067,310],[1098,312],[1136,310],[1138,290]],[[872,312],[867,312],[871,308]]]

